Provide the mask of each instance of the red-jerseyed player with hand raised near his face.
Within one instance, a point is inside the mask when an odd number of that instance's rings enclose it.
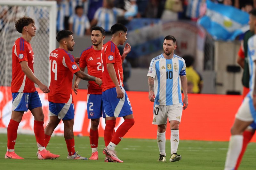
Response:
[[[115,147],[134,124],[131,103],[123,88],[122,67],[124,58],[131,51],[131,46],[126,43],[124,53],[121,56],[117,46],[119,44],[123,45],[127,40],[127,28],[122,24],[115,24],[110,30],[112,38],[108,43],[104,44],[102,49],[102,100],[106,114],[104,131],[106,148],[103,150],[103,154],[116,162],[123,162],[117,158]],[[123,117],[124,122],[113,136],[117,117]]]

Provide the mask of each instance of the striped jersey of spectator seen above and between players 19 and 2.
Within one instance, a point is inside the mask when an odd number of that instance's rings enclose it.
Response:
[[[78,36],[84,36],[84,30],[90,29],[91,27],[89,19],[86,15],[82,15],[82,17],[72,15],[68,19],[68,23],[73,24],[73,33]]]

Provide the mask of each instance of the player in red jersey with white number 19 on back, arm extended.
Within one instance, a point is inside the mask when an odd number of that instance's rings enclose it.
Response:
[[[50,54],[51,83],[48,94],[50,121],[45,132],[45,145],[50,141],[54,129],[60,123],[64,123],[64,138],[68,148],[68,159],[87,158],[78,155],[75,151],[75,140],[73,133],[75,108],[72,97],[72,81],[74,73],[83,80],[95,81],[95,85],[101,86],[101,79],[82,72],[76,65],[75,58],[68,53],[73,51],[75,41],[72,32],[62,30],[57,34],[60,47]]]

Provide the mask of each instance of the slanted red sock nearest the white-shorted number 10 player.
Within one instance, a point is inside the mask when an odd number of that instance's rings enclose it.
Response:
[[[125,119],[124,122],[116,130],[115,135],[113,136],[111,142],[116,145],[121,141],[124,135],[128,132],[130,128],[134,125],[134,119]]]

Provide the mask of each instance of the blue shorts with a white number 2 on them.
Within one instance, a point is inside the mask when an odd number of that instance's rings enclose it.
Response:
[[[98,119],[103,116],[106,118],[104,113],[104,107],[102,102],[101,94],[88,94],[87,95],[87,114],[88,119]]]

